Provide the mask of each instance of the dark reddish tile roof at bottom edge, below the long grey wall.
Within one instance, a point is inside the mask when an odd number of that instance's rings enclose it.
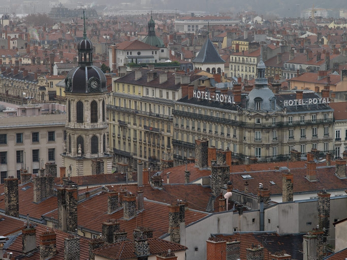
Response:
[[[301,260],[303,259],[302,241],[304,234],[293,235],[278,235],[272,232],[247,232],[247,233],[234,233],[216,234],[215,237],[223,238],[226,241],[240,241],[240,258],[246,259],[247,248],[251,248],[251,245],[258,245],[264,247],[264,256],[285,250],[292,256],[291,259]],[[266,257],[264,257],[267,259]]]

